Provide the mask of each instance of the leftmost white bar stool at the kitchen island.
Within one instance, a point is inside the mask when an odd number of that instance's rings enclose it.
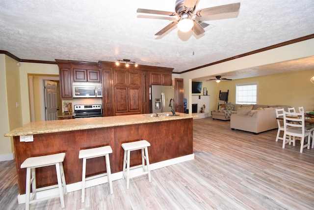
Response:
[[[43,201],[43,200],[48,200],[55,197],[60,197],[61,208],[65,207],[64,206],[64,194],[67,194],[67,188],[66,188],[63,164],[62,164],[64,158],[65,158],[65,153],[62,152],[62,153],[57,153],[57,154],[45,155],[45,156],[29,157],[21,164],[21,168],[26,168],[26,202],[25,202],[26,210],[29,210],[29,204]],[[55,165],[58,184],[36,189],[36,168],[52,166],[52,165]],[[30,197],[30,185],[32,189],[31,197]],[[59,194],[41,198],[41,199],[36,198],[36,192],[47,190],[47,189],[52,189],[52,188],[59,188]]]

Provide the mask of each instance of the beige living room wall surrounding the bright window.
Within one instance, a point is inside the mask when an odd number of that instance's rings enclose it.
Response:
[[[229,90],[228,102],[235,103],[235,85],[258,83],[258,103],[265,105],[303,106],[306,111],[314,110],[314,84],[310,79],[314,69],[285,74],[274,74],[246,79],[221,81],[220,83],[206,82],[211,91],[210,111],[216,110],[219,90]]]

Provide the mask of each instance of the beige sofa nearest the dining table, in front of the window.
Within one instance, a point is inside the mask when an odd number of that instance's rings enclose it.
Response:
[[[230,128],[259,134],[261,132],[278,128],[275,109],[284,108],[288,111],[289,106],[267,106],[257,109],[237,109],[230,117]],[[254,106],[252,107],[254,108]]]

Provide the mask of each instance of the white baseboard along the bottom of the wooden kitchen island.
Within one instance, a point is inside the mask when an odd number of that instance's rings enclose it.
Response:
[[[185,155],[182,157],[177,157],[177,158],[173,158],[170,160],[164,160],[161,162],[150,164],[150,169],[152,171],[152,170],[156,170],[159,168],[163,168],[166,166],[174,165],[177,163],[181,163],[181,162],[193,160],[193,159],[194,159],[194,154],[188,154],[188,155]],[[130,177],[139,176],[141,174],[142,174],[142,168],[141,167],[130,170]],[[111,174],[111,179],[113,181],[122,179],[122,171]],[[87,188],[87,187],[92,187],[92,186],[96,186],[96,185],[107,183],[107,182],[108,182],[107,177],[100,177],[100,178],[95,178],[92,180],[86,180],[85,186]],[[67,191],[68,192],[73,192],[73,191],[77,191],[77,190],[81,190],[81,189],[82,189],[81,181],[76,182],[76,183],[72,183],[72,184],[67,184]],[[37,199],[40,199],[40,198],[45,198],[45,197],[52,196],[52,195],[58,195],[59,191],[58,191],[58,188],[53,188],[53,189],[48,189],[48,190],[43,190],[43,191],[37,192],[36,194],[37,194],[36,195]],[[23,194],[23,195],[19,194],[18,195],[18,203],[19,204],[25,203],[25,199],[26,199],[25,194]]]

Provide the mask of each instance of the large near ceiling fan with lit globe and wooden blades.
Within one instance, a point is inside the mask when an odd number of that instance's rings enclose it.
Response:
[[[221,6],[214,6],[205,9],[196,10],[196,6],[199,0],[176,0],[175,10],[176,12],[167,12],[160,10],[152,10],[152,9],[140,9],[138,8],[136,12],[138,13],[148,13],[148,14],[157,14],[157,15],[167,15],[167,16],[177,16],[177,21],[173,21],[168,24],[165,28],[159,30],[155,35],[162,35],[167,30],[170,30],[172,27],[178,24],[178,29],[187,32],[192,28],[196,35],[200,35],[205,32],[202,26],[198,23],[196,19],[192,19],[195,17],[203,17],[210,15],[221,15],[227,13],[238,12],[240,8],[240,3],[231,3]],[[219,19],[223,19],[219,18]]]

